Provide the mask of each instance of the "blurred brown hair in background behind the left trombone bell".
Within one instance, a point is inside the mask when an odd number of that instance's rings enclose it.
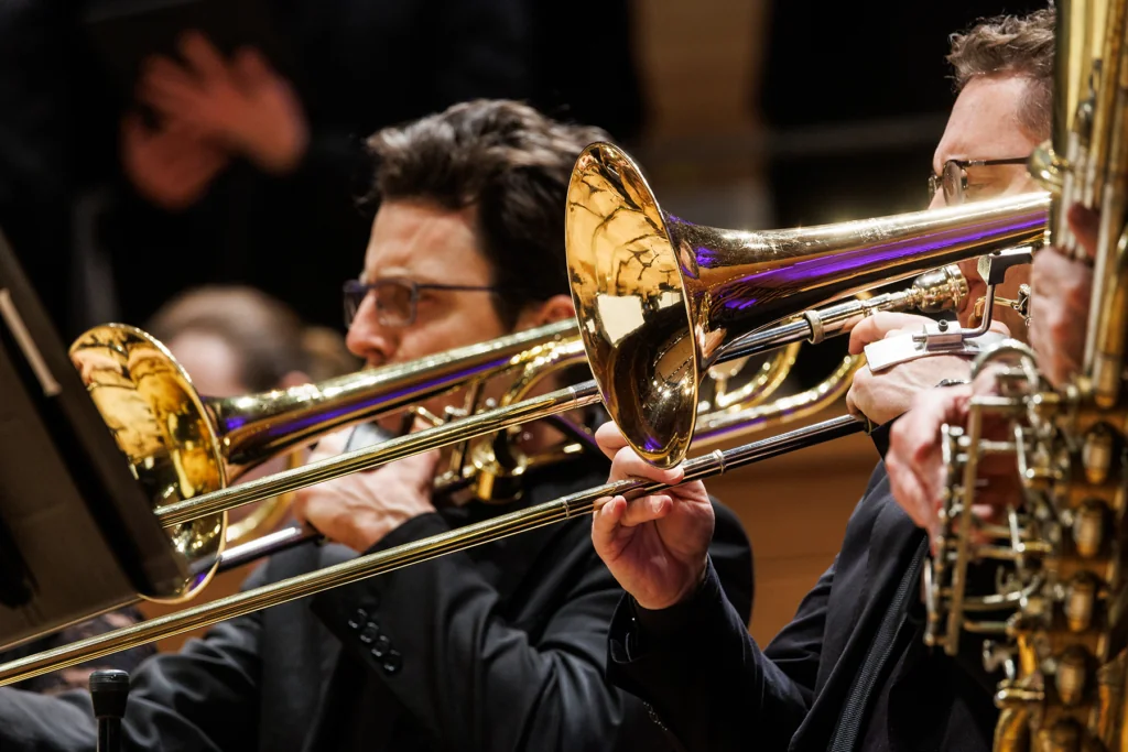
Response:
[[[359,368],[340,334],[306,326],[290,307],[254,287],[188,290],[165,303],[146,330],[166,344],[186,331],[219,337],[238,357],[241,381],[254,391],[275,389],[294,371],[319,381]]]

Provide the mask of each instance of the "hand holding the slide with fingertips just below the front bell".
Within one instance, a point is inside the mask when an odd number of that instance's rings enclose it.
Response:
[[[649,478],[680,483],[681,467],[660,470],[627,446],[614,423],[596,440],[610,458],[609,483]],[[611,575],[644,609],[664,609],[693,595],[705,576],[713,539],[713,504],[699,480],[627,502],[601,499],[591,522],[591,541]]]

